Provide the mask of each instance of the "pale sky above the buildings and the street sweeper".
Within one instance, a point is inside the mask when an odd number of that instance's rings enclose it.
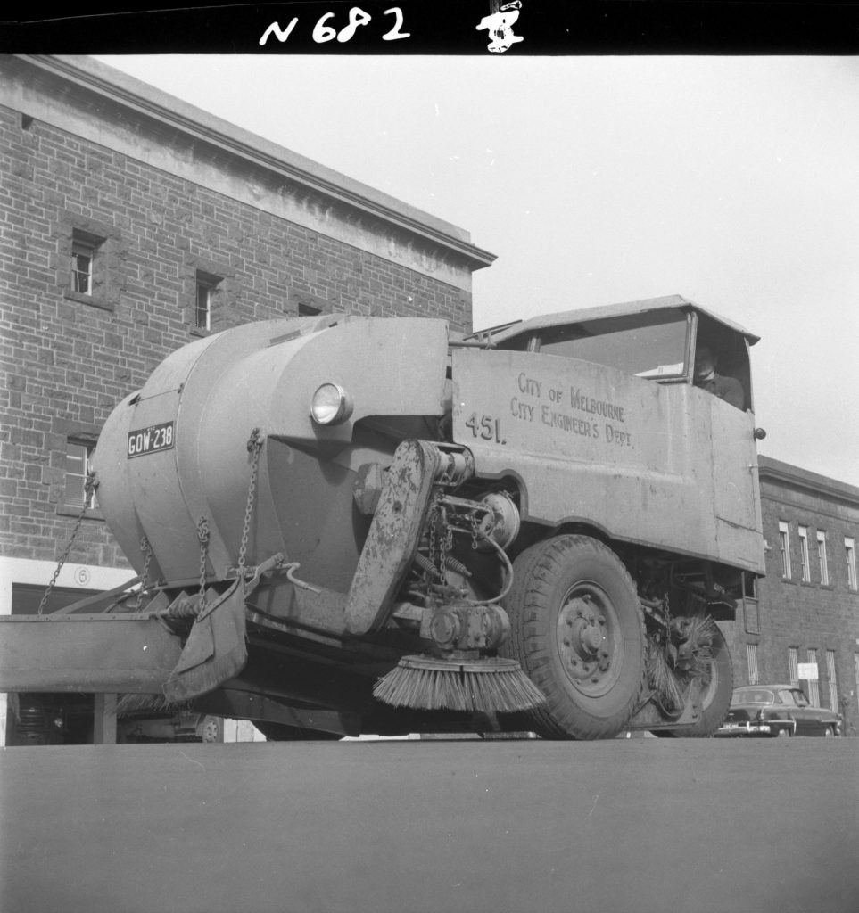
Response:
[[[474,328],[680,294],[759,452],[859,486],[859,58],[99,56],[471,233]]]

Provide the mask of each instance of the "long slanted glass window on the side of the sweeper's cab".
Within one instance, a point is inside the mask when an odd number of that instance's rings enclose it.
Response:
[[[678,378],[685,373],[687,325],[676,310],[568,323],[540,331],[539,351],[654,380]]]

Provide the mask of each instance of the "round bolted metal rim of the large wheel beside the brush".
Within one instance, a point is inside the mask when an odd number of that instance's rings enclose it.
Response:
[[[617,683],[623,667],[620,618],[598,584],[578,582],[567,591],[557,614],[557,658],[567,681],[589,698]]]

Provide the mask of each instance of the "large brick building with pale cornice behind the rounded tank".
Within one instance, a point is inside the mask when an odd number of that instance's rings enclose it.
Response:
[[[0,613],[126,581],[85,503],[102,423],[164,357],[338,310],[470,330],[461,228],[90,58],[0,57]],[[0,732],[3,730],[0,721]]]

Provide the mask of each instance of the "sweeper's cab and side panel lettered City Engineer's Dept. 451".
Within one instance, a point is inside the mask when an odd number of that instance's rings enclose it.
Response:
[[[671,550],[735,584],[739,570],[764,572],[748,357],[758,337],[671,296],[472,341],[492,348],[454,352],[454,437],[478,475],[516,477],[524,519]],[[705,346],[742,408],[695,385]]]

